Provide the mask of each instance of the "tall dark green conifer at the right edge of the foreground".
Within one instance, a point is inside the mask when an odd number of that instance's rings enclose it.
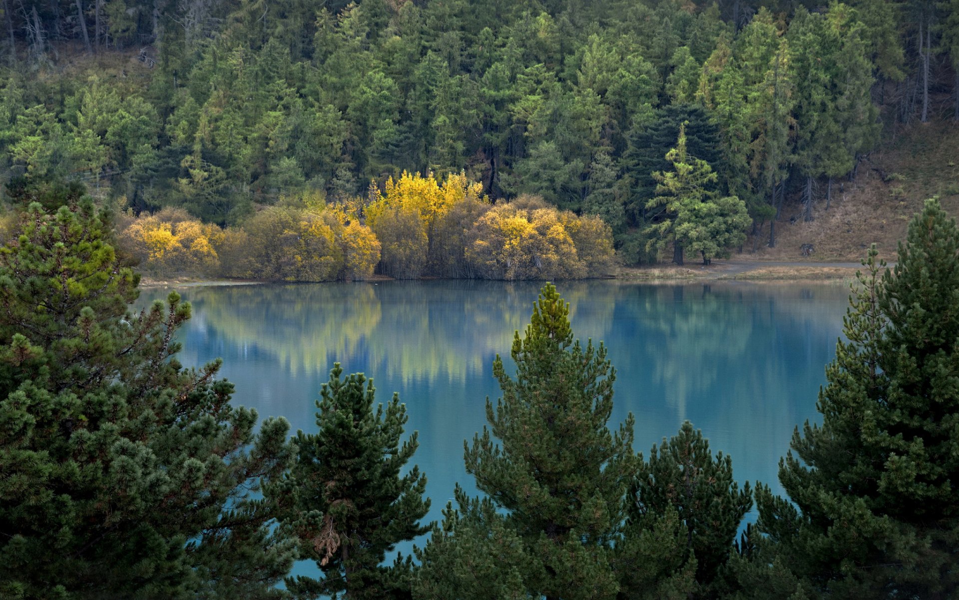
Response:
[[[793,436],[780,480],[757,492],[760,563],[778,557],[830,598],[959,591],[959,231],[936,200],[899,260],[870,250],[820,392],[822,426]],[[782,581],[782,572],[777,577]],[[757,594],[758,596],[760,594]]]

